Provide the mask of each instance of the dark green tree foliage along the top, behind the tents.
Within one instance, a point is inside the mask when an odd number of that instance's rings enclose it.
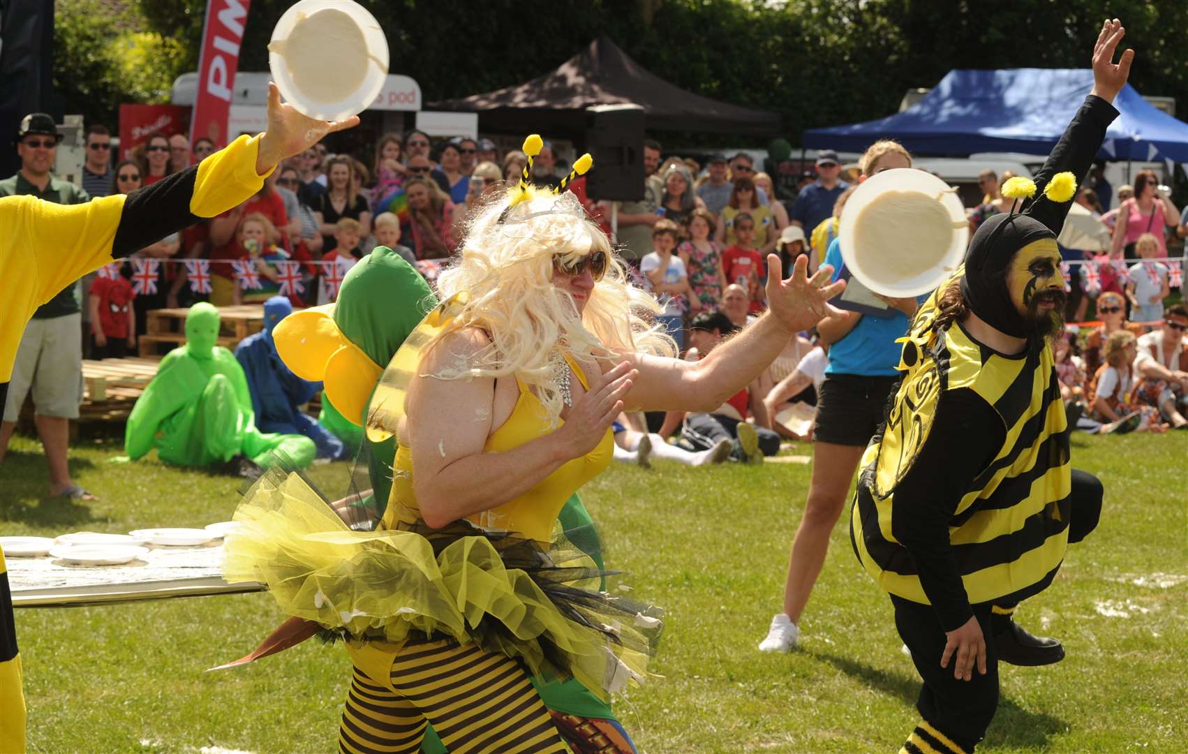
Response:
[[[425,101],[518,84],[552,70],[601,33],[672,83],[805,128],[880,118],[904,91],[931,87],[953,68],[1087,68],[1101,21],[1118,15],[1138,52],[1131,83],[1170,95],[1188,119],[1188,2],[1019,0],[362,0],[383,25],[391,70],[416,78]],[[157,84],[134,83],[141,64],[112,65],[108,21],[64,13],[89,0],[58,0],[59,89],[108,112]],[[206,0],[135,0],[164,55],[146,55],[160,77],[196,70]],[[272,27],[291,0],[252,0],[241,70],[267,70]],[[69,50],[65,47],[70,46]],[[165,69],[170,69],[165,74]],[[153,81],[157,81],[156,78]],[[143,101],[143,100],[140,100]]]

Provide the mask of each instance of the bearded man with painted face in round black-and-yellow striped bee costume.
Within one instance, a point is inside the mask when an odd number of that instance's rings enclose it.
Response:
[[[972,752],[998,705],[998,661],[1063,657],[1011,613],[1051,583],[1101,511],[1101,484],[1069,464],[1047,338],[1063,329],[1056,234],[1133,59],[1126,50],[1113,63],[1123,33],[1117,20],[1102,26],[1093,91],[1035,182],[1004,188],[1024,211],[987,220],[963,268],[921,306],[903,338],[904,381],[862,458],[854,552],[890,594],[924,682],[901,753]]]

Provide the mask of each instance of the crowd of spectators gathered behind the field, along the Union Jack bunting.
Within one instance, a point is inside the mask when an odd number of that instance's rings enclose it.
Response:
[[[20,170],[0,180],[0,195],[80,203],[128,194],[215,150],[209,139],[157,134],[131,159],[116,161],[110,131],[93,123],[86,128],[86,164],[82,185],[76,186],[52,175],[59,140],[50,116],[27,116],[17,140]],[[873,157],[867,152],[864,173],[873,164],[883,164],[879,170],[903,166],[903,160],[910,165],[910,156],[895,142],[876,146],[881,151]],[[604,229],[611,232],[615,223],[617,248],[634,281],[661,299],[657,323],[690,359],[703,356],[765,309],[769,253],[779,255],[785,271],[801,255],[808,256],[810,271],[826,261],[836,246],[841,210],[857,186],[842,178],[841,160],[830,150],[817,152],[814,170],[801,173],[798,182],[778,185],[756,169],[747,152],[699,161],[666,154],[659,142],[647,140],[643,163],[639,201],[596,201],[587,196],[584,178],[569,189]],[[51,493],[89,498],[65,465],[68,422],[78,417],[84,354],[102,359],[134,353],[153,309],[263,303],[277,294],[297,308],[334,302],[346,273],[375,246],[393,249],[431,284],[456,252],[470,211],[492,191],[519,179],[526,164],[523,152],[500,153],[491,139],[434,139],[416,129],[385,134],[366,153],[335,154],[317,144],[285,160],[241,205],[88,275],[38,310],[18,355],[0,458],[31,393]],[[564,167],[557,146],[545,141],[531,178],[556,186]],[[991,171],[981,176],[982,201],[968,211],[972,229],[1010,211],[1010,199],[1000,194],[1007,178]],[[1182,304],[1165,304],[1182,286],[1181,266],[1165,259],[1169,241],[1188,235],[1188,210],[1178,214],[1157,184],[1154,172],[1140,172],[1133,186],[1118,186],[1114,199],[1099,165],[1078,203],[1101,224],[1104,242],[1097,254],[1062,247],[1069,262],[1068,318],[1083,322],[1092,316],[1099,322],[1070,328],[1057,343],[1066,405],[1083,431],[1188,425],[1188,312]],[[627,416],[621,438],[628,438],[632,449],[643,442],[646,450],[682,427],[685,451],[703,454],[689,456],[697,463],[726,457],[723,441],[732,443],[729,455],[737,460],[758,461],[778,450],[781,437],[811,438],[811,407],[832,360],[828,346],[848,332],[840,327],[791,338],[765,376],[719,411]],[[748,429],[752,424],[756,431]],[[625,452],[637,452],[632,449]]]

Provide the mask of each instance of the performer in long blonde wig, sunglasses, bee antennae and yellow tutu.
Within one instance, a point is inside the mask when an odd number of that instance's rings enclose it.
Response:
[[[291,615],[347,639],[341,750],[416,752],[426,722],[454,753],[633,750],[609,708],[546,709],[532,685],[570,679],[605,705],[645,678],[661,629],[655,608],[602,591],[592,532],[558,514],[609,463],[620,411],[721,405],[842,287],[803,262],[782,280],[769,259],[771,311],[680,361],[640,316],[655,300],[563,191],[588,166],[555,194],[527,184],[530,160],[472,220],[438,279],[443,303],[369,401],[368,437],[397,438],[375,531],[348,528],[297,475],[266,476],[236,512],[228,581],[265,582]]]

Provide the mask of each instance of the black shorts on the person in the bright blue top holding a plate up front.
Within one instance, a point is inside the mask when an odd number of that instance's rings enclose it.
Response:
[[[817,397],[816,429],[822,443],[865,448],[878,430],[898,376],[827,374]]]

